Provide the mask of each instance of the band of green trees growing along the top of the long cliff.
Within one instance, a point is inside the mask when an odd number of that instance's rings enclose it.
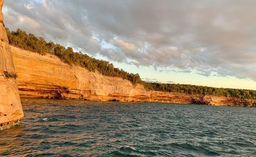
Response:
[[[43,37],[35,37],[34,34],[26,34],[25,31],[17,29],[17,31],[9,31],[6,28],[9,43],[29,51],[34,51],[45,55],[47,53],[54,54],[64,63],[69,65],[81,66],[89,71],[99,71],[105,76],[121,77],[131,81],[131,83],[141,83],[148,90],[175,92],[183,94],[207,94],[224,97],[237,97],[256,99],[256,91],[233,88],[213,88],[207,86],[167,84],[167,83],[147,83],[141,80],[139,74],[132,74],[118,69],[105,60],[98,60],[81,52],[74,52],[71,47],[65,48],[58,43],[47,42]]]

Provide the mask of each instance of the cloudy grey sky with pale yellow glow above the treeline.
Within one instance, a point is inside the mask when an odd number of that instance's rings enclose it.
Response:
[[[255,0],[6,0],[20,28],[143,80],[256,90]]]

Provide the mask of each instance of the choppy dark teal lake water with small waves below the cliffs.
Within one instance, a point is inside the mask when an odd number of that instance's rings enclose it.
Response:
[[[9,157],[253,157],[256,108],[22,99]]]

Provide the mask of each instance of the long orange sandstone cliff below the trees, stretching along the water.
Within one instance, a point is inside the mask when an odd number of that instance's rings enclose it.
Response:
[[[11,46],[21,97],[97,101],[166,102],[222,106],[255,106],[255,100],[147,91],[119,77],[69,66],[54,56],[42,56]]]

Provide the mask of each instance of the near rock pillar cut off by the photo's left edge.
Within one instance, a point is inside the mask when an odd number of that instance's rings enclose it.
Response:
[[[2,10],[4,0],[0,0]],[[17,123],[23,117],[19,91],[14,79],[6,79],[4,71],[15,72],[3,14],[0,13],[0,129]]]

